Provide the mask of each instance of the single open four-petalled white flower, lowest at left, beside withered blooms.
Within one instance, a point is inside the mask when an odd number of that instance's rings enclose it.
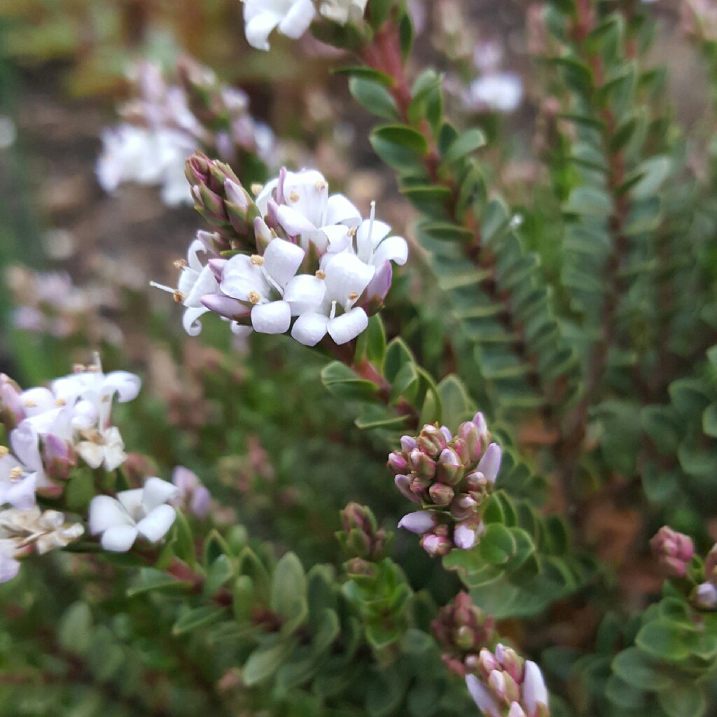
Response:
[[[117,498],[95,495],[90,503],[90,533],[101,533],[103,548],[114,553],[126,553],[138,536],[157,543],[174,524],[176,513],[166,503],[177,495],[179,489],[161,478],[148,478],[144,488],[123,490]]]

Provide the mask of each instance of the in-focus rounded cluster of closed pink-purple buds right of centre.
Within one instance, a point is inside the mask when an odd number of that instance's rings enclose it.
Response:
[[[445,426],[427,424],[417,437],[402,437],[388,465],[398,490],[422,510],[404,516],[399,528],[421,535],[432,556],[472,548],[483,532],[481,516],[500,458],[482,413],[460,424],[455,436]]]

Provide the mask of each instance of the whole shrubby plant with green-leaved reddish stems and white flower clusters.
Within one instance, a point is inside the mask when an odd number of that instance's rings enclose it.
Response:
[[[330,166],[267,181],[239,90],[140,66],[98,177],[204,219],[176,288],[153,282],[191,338],[133,315],[168,399],[99,359],[47,387],[0,376],[6,713],[713,712],[713,118],[691,138],[675,120],[652,4],[546,0],[527,13],[537,170],[516,187],[492,163],[523,84],[437,4],[460,77],[421,68],[416,3],[243,5],[252,47],[276,30],[341,51],[418,214],[410,252],[384,197],[330,193]],[[717,87],[713,15],[683,0]],[[227,323],[295,341],[252,336],[252,364]]]

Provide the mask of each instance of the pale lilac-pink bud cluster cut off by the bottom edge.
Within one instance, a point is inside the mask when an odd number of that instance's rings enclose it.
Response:
[[[480,650],[474,674],[465,682],[486,717],[549,717],[548,690],[536,663],[498,643]]]

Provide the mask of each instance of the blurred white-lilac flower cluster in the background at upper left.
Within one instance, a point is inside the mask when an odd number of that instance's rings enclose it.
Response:
[[[162,201],[169,206],[191,204],[184,162],[197,148],[213,147],[230,159],[239,146],[265,160],[270,158],[274,135],[249,115],[247,95],[234,87],[222,87],[211,70],[188,59],[184,66],[217,91],[217,104],[227,115],[229,131],[212,133],[191,111],[184,87],[167,85],[159,67],[141,62],[131,72],[138,97],[120,108],[125,122],[103,133],[97,176],[105,191],[136,182],[161,186]]]

